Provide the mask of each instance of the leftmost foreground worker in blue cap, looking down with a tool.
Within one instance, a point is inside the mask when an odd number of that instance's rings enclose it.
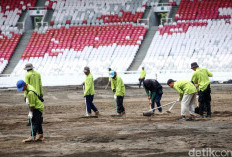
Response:
[[[35,136],[35,141],[43,141],[43,110],[44,104],[38,98],[36,90],[33,86],[27,84],[23,80],[17,82],[17,90],[19,92],[26,92],[26,104],[29,105],[30,111],[28,117],[32,119],[33,126],[33,136]],[[37,134],[38,133],[38,134]],[[37,135],[36,135],[37,134]],[[32,133],[28,139],[23,140],[22,142],[31,142],[33,141]]]

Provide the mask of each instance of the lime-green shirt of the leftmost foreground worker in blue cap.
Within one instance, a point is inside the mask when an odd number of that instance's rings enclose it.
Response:
[[[35,88],[28,84],[25,92],[27,95],[26,97],[28,98],[28,101],[29,101],[29,106],[34,107],[35,109],[38,109],[40,112],[43,112],[44,105],[33,91],[36,92]]]

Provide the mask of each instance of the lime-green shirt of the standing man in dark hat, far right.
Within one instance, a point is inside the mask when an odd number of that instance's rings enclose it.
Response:
[[[193,73],[191,81],[193,83],[198,83],[198,89],[200,91],[206,90],[208,85],[210,84],[209,77],[212,77],[213,74],[206,68],[197,68]]]

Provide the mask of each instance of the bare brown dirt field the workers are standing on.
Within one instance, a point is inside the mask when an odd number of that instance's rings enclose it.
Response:
[[[162,104],[178,94],[164,88]],[[110,89],[96,89],[94,103],[101,116],[81,118],[85,103],[81,88],[44,89],[44,142],[23,144],[30,135],[26,126],[27,106],[23,93],[0,90],[0,156],[159,156],[186,157],[193,148],[232,151],[232,86],[212,87],[212,118],[178,121],[180,104],[172,113],[156,111],[151,119],[142,116],[149,109],[144,89],[127,88],[126,117],[115,114]]]

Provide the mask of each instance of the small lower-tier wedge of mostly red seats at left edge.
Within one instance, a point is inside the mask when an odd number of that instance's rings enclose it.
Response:
[[[15,34],[13,32],[0,34],[0,74],[8,64],[20,37],[21,34]]]

